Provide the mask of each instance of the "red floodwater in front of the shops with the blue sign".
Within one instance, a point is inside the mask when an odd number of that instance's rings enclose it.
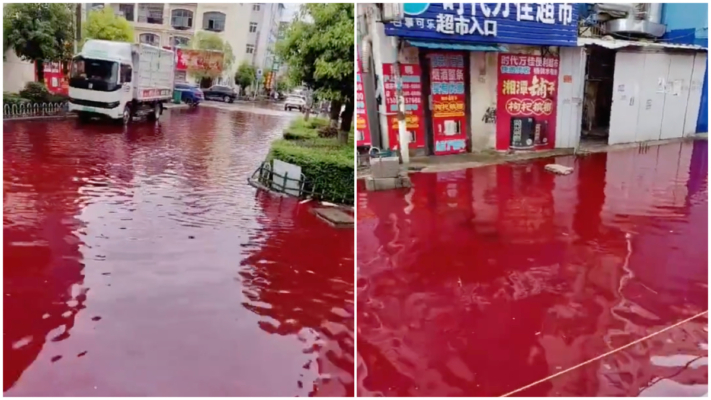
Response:
[[[358,395],[499,396],[706,311],[707,154],[696,141],[359,188]],[[703,395],[707,325],[517,395]]]

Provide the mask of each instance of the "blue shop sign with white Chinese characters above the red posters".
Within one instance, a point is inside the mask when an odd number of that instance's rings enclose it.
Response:
[[[577,46],[574,3],[405,3],[385,34],[458,43]]]

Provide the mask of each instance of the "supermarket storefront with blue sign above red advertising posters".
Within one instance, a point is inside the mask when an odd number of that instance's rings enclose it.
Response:
[[[398,53],[410,151],[446,155],[556,146],[564,48],[577,46],[577,9],[560,3],[406,3],[384,26]],[[394,52],[384,48],[381,54]],[[377,58],[378,55],[375,55]],[[386,58],[386,57],[383,57]],[[382,62],[387,142],[399,150],[394,64]]]

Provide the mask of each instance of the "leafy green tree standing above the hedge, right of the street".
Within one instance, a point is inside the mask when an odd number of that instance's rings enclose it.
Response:
[[[348,141],[353,123],[355,42],[353,4],[303,4],[277,45],[293,82],[302,82],[319,97],[331,100],[332,121],[341,116],[338,138]]]

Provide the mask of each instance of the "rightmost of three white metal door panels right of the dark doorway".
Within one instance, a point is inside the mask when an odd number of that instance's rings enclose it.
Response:
[[[671,55],[660,139],[679,138],[684,134],[686,105],[689,101],[689,82],[693,69],[693,54]]]

